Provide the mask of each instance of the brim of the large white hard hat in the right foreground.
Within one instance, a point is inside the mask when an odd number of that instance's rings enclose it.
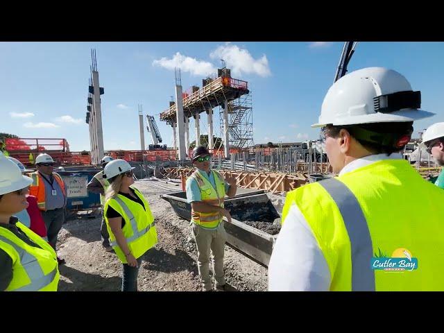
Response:
[[[433,112],[419,110],[419,109],[402,109],[391,113],[377,112],[373,114],[362,114],[359,116],[344,116],[336,117],[331,121],[323,121],[320,123],[314,123],[311,127],[323,127],[326,125],[341,126],[341,125],[357,125],[359,123],[395,123],[402,121],[416,121],[432,117],[435,114]]]

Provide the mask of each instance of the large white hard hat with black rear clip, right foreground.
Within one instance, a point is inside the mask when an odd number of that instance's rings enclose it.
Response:
[[[319,121],[311,127],[432,117],[434,113],[419,110],[420,103],[420,92],[413,92],[409,81],[397,71],[368,67],[352,71],[328,89]]]

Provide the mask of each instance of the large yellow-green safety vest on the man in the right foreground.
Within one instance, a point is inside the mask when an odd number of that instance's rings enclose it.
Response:
[[[282,223],[298,205],[330,268],[332,291],[444,290],[440,203],[444,191],[409,162],[382,160],[290,191]],[[393,257],[417,260],[416,269],[375,269]]]

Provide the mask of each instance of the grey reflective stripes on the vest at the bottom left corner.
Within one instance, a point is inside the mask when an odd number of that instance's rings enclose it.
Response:
[[[26,284],[24,287],[14,289],[13,291],[37,291],[46,287],[48,284],[53,282],[54,278],[56,278],[57,266],[53,269],[53,271],[45,275],[36,257],[26,252],[24,248],[21,248],[6,237],[0,236],[0,240],[9,244],[17,251],[20,257],[20,264],[26,271],[29,280],[31,280],[31,283]]]

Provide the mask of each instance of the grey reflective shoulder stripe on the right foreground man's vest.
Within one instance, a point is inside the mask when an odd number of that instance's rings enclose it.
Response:
[[[375,271],[370,267],[373,257],[372,239],[366,217],[355,194],[335,178],[319,182],[341,212],[348,232],[352,254],[352,291],[375,291]]]

